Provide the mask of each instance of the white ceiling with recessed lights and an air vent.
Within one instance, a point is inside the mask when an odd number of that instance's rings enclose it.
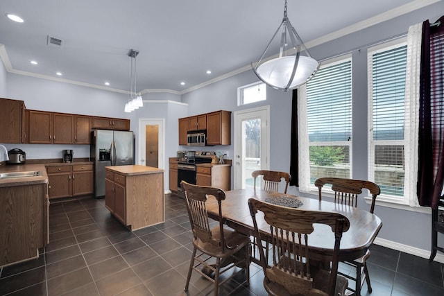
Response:
[[[289,0],[288,17],[306,44],[316,44],[436,1]],[[60,71],[70,82],[108,81],[105,88],[128,92],[128,52],[136,49],[137,91],[180,94],[248,69],[282,21],[283,7],[284,0],[0,1],[0,56],[11,73],[60,79]],[[47,35],[62,39],[62,47],[47,46]]]

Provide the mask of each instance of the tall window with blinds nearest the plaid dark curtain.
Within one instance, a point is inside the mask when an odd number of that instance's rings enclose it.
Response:
[[[407,45],[368,53],[368,178],[381,195],[404,195],[404,98]]]

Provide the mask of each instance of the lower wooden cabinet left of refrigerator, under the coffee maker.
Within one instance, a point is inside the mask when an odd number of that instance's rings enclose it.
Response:
[[[92,164],[47,166],[49,198],[69,198],[94,193]]]

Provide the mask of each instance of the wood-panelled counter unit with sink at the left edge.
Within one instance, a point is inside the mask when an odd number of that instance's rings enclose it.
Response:
[[[43,164],[0,166],[0,267],[39,256],[49,241]]]

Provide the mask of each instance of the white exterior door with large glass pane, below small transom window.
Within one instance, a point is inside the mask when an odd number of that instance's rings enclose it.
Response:
[[[234,112],[234,189],[253,188],[251,173],[270,166],[270,106]]]

